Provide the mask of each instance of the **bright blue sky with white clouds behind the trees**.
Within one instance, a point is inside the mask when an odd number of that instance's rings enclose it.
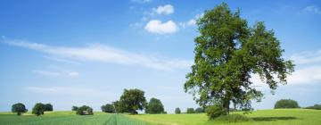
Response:
[[[37,102],[54,110],[90,105],[96,111],[124,88],[161,99],[168,112],[197,107],[183,89],[193,63],[194,21],[223,1],[0,1],[0,111]],[[266,96],[255,109],[292,98],[321,104],[321,3],[291,0],[225,1],[249,25],[265,21],[296,64],[276,95],[253,76]]]

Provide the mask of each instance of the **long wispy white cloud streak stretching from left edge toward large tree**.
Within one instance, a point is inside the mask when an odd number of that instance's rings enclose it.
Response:
[[[168,24],[166,24],[165,27],[169,27]],[[192,64],[192,61],[189,60],[161,58],[149,54],[135,54],[132,52],[127,52],[118,48],[104,46],[101,44],[93,44],[84,47],[67,47],[47,46],[43,44],[30,43],[23,40],[5,40],[4,43],[11,46],[21,46],[24,48],[29,48],[62,59],[86,62],[139,65],[161,71],[186,69],[189,68]],[[54,75],[55,73],[46,72],[46,74]],[[71,73],[70,75],[76,74]]]

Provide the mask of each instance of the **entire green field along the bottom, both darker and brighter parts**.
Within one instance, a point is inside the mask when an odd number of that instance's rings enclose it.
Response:
[[[242,112],[233,112],[242,114]],[[75,112],[45,112],[37,117],[24,113],[22,116],[12,112],[0,113],[1,125],[321,125],[321,111],[308,109],[261,110],[245,116],[250,121],[226,122],[208,121],[200,114],[109,114],[95,112],[93,116],[78,116]]]

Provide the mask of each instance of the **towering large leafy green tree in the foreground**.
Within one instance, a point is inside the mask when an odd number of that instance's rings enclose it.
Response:
[[[228,114],[232,102],[251,110],[251,100],[263,96],[253,87],[252,75],[259,74],[275,90],[294,71],[273,30],[261,21],[249,27],[240,12],[232,12],[225,3],[205,11],[197,25],[200,36],[194,39],[194,64],[186,75],[185,92],[202,106],[216,104]]]

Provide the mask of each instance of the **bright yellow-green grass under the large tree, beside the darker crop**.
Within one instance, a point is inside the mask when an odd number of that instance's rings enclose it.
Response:
[[[242,112],[234,112],[242,114]],[[129,115],[141,121],[161,125],[321,125],[321,111],[308,109],[261,110],[246,114],[250,121],[208,121],[206,114],[148,114]]]

